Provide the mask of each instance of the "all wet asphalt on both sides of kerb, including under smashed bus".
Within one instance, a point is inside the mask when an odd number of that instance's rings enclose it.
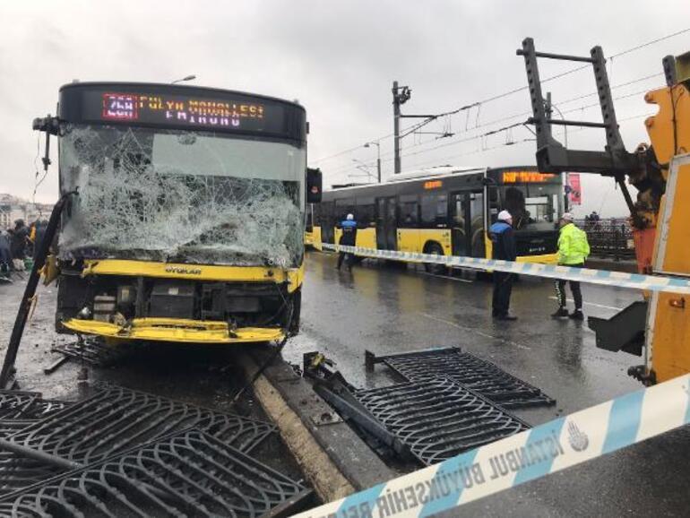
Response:
[[[283,356],[301,365],[302,354],[321,350],[337,362],[350,383],[392,384],[383,366],[373,375],[364,369],[364,350],[390,353],[430,346],[460,346],[541,388],[556,398],[555,407],[516,412],[531,424],[581,410],[640,388],[626,376],[641,363],[624,353],[594,346],[586,324],[553,321],[552,283],[522,279],[513,289],[514,323],[493,321],[488,312],[491,285],[486,281],[444,279],[412,267],[367,262],[350,274],[337,272],[335,256],[307,255],[302,332],[290,340]],[[23,282],[0,285],[0,351],[9,338]],[[613,315],[638,298],[622,289],[583,287],[588,315]],[[71,340],[53,331],[56,290],[39,289],[39,304],[22,341],[18,379],[22,388],[47,397],[75,399],[80,365],[70,362],[44,376],[56,355],[55,341]],[[242,375],[232,366],[236,350],[154,345],[125,365],[90,369],[91,379],[106,379],[220,410]],[[242,413],[261,417],[251,394]],[[237,408],[233,410],[238,410]],[[267,458],[268,457],[268,458]],[[283,454],[263,455],[274,467],[286,468]],[[292,471],[292,470],[287,470]],[[580,467],[562,471],[447,516],[687,516],[690,515],[690,427],[651,439]]]

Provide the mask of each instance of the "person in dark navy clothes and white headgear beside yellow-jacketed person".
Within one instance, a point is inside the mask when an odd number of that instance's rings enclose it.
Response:
[[[517,258],[513,216],[510,212],[501,211],[498,213],[498,220],[489,229],[489,237],[491,237],[492,257],[494,259],[514,261]],[[494,271],[494,298],[491,315],[498,320],[517,320],[517,316],[508,313],[510,295],[513,291],[513,279],[513,273]]]

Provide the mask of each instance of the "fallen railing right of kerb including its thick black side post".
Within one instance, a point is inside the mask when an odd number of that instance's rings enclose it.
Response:
[[[401,457],[431,464],[529,427],[466,385],[437,376],[358,390],[319,353],[307,353],[304,374],[315,392],[360,434]]]

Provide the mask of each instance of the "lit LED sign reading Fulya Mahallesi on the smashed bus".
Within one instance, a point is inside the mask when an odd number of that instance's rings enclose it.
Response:
[[[263,104],[179,95],[104,92],[100,100],[104,121],[227,128],[253,121],[251,129],[259,129],[266,115]]]

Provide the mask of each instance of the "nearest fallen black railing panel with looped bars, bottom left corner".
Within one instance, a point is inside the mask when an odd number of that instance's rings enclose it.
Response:
[[[254,518],[309,491],[197,430],[72,471],[20,496],[6,516],[233,516]]]

